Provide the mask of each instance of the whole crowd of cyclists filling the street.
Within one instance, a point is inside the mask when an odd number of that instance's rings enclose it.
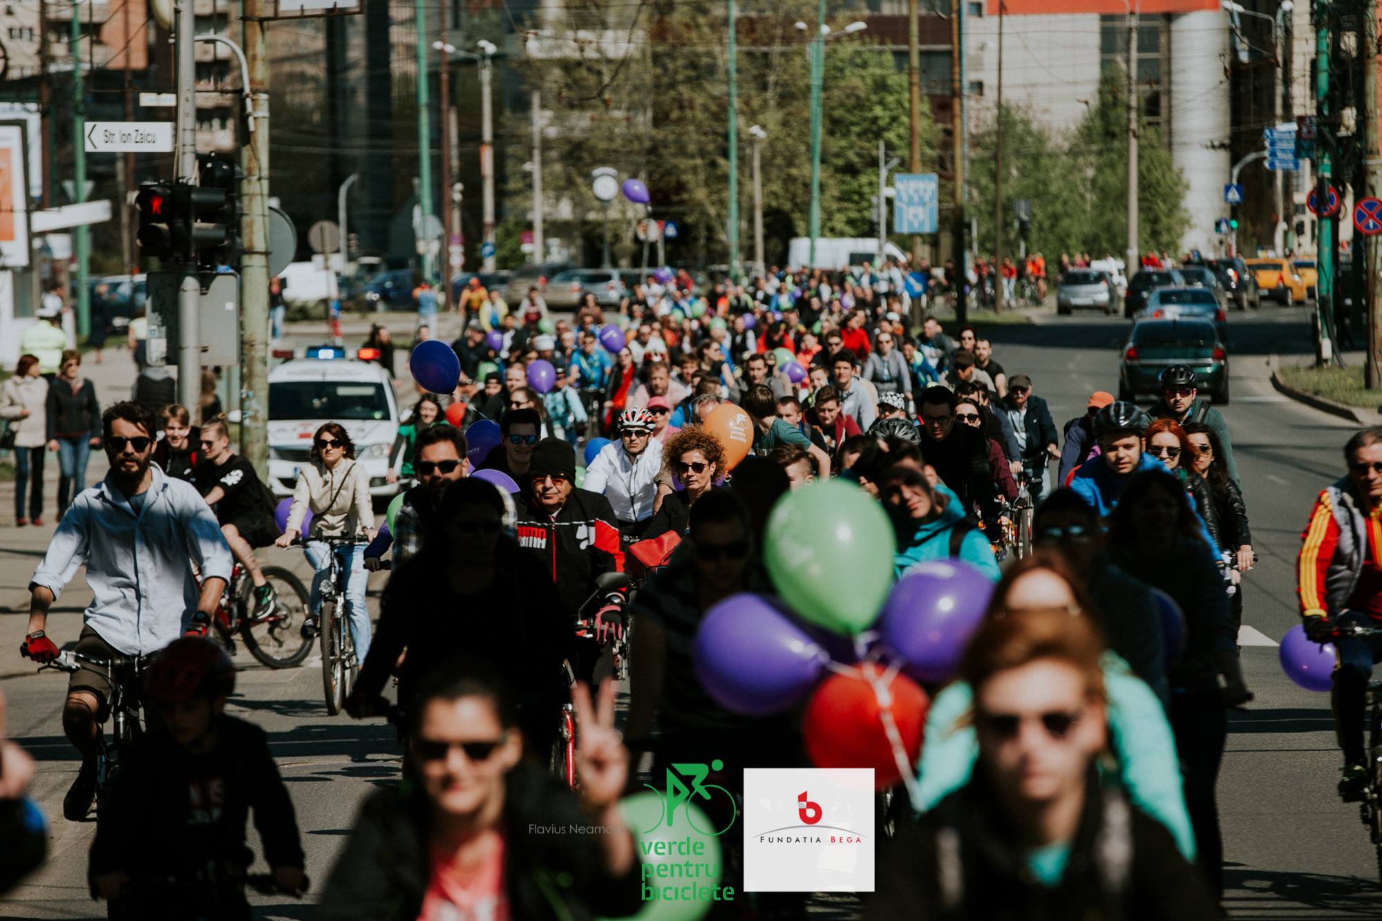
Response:
[[[455,391],[419,394],[402,431],[408,488],[388,534],[334,422],[315,431],[279,530],[223,420],[192,429],[181,407],[160,422],[140,404],[106,408],[111,473],[72,501],[35,571],[22,649],[59,655],[72,638],[47,636],[46,614],[86,564],[94,600],[75,651],[88,658],[62,711],[83,758],[72,820],[97,794],[108,715],[112,676],[91,660],[151,661],[149,732],[100,806],[93,893],[137,906],[141,882],[177,880],[221,892],[216,917],[247,917],[250,809],[272,885],[308,885],[292,802],[263,732],[224,712],[235,672],[207,636],[232,561],[263,586],[254,615],[274,617],[254,550],[303,542],[316,578],[293,629],[315,635],[339,555],[361,664],[346,709],[391,716],[405,744],[405,781],[365,801],[318,915],[636,913],[626,790],[714,761],[714,781],[742,794],[745,768],[808,763],[800,714],[726,709],[694,647],[717,603],[774,595],[774,505],[835,478],[887,513],[898,578],[960,560],[995,584],[959,678],[926,689],[912,801],[925,812],[893,801],[865,917],[1219,917],[1215,785],[1227,711],[1252,700],[1237,632],[1253,567],[1223,416],[1193,369],[1172,365],[1150,409],[1095,391],[1057,429],[1038,382],[1005,369],[980,331],[947,333],[934,317],[912,329],[909,308],[900,279],[865,266],[703,292],[684,274],[650,277],[609,315],[590,301],[571,318],[536,301],[463,311]],[[550,382],[529,373],[539,360]],[[480,422],[498,423],[498,444],[467,437]],[[1321,642],[1382,618],[1382,430],[1345,455],[1300,556],[1302,613]],[[372,625],[365,585],[386,556]],[[1168,604],[1179,639],[1164,631]],[[625,647],[616,719],[608,679]],[[1363,696],[1382,646],[1341,640],[1339,653],[1350,799],[1367,781]],[[551,769],[564,708],[576,790]],[[543,837],[542,824],[598,834]],[[734,837],[728,880],[742,874]],[[750,903],[756,917],[799,917],[804,899]]]

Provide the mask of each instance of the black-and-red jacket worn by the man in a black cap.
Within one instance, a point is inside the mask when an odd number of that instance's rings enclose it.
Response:
[[[597,575],[623,573],[619,523],[609,499],[598,492],[572,487],[556,519],[525,502],[518,509],[518,543],[551,574],[572,620],[594,593]]]

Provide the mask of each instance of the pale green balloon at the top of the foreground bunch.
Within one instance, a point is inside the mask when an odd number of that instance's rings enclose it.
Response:
[[[864,490],[795,490],[768,517],[763,560],[792,610],[836,633],[868,629],[893,586],[893,525]]]

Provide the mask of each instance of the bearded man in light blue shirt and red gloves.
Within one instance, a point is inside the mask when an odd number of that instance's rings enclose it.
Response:
[[[58,657],[43,632],[48,608],[83,563],[93,599],[76,651],[98,658],[148,655],[184,632],[205,633],[231,578],[231,548],[210,506],[191,483],[152,463],[149,411],[116,402],[101,423],[111,472],[72,502],[29,582],[29,628],[19,654],[40,664]],[[202,573],[200,588],[191,563]],[[62,803],[62,815],[73,821],[95,797],[109,686],[106,671],[90,662],[68,680],[62,730],[82,752],[82,769]]]

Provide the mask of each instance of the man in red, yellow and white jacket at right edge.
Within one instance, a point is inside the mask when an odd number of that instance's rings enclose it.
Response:
[[[1334,643],[1334,719],[1343,748],[1345,802],[1361,799],[1368,781],[1363,723],[1372,667],[1382,640],[1338,636],[1345,625],[1382,626],[1382,427],[1363,429],[1343,445],[1345,477],[1325,487],[1300,535],[1296,593],[1306,636]]]

